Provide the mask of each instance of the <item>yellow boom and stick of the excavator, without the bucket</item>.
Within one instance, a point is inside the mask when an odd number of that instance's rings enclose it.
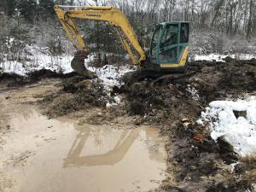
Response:
[[[67,32],[67,37],[73,43],[74,48],[78,50],[77,54],[79,55],[78,57],[80,57],[79,62],[84,60],[84,58],[89,54],[89,50],[84,44],[81,33],[79,32],[78,27],[73,20],[74,18],[107,21],[110,25],[117,28],[119,38],[124,45],[125,50],[130,55],[131,62],[134,65],[140,65],[143,61],[146,60],[146,54],[142,46],[139,44],[137,36],[133,31],[130,22],[127,20],[126,16],[118,9],[113,7],[55,5],[55,12],[58,16],[58,19],[61,21],[61,25]],[[125,38],[119,29],[121,29],[122,33],[125,35]],[[137,51],[138,56],[133,54],[131,47],[126,39],[129,40],[132,47]],[[78,60],[78,58],[74,59]]]

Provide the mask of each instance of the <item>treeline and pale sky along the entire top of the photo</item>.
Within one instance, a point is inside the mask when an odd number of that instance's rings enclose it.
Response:
[[[254,0],[2,0],[0,8],[8,16],[19,11],[33,23],[55,18],[55,4],[113,5],[129,17],[135,28],[148,29],[167,20],[188,20],[193,29],[212,28],[247,38],[256,34]]]

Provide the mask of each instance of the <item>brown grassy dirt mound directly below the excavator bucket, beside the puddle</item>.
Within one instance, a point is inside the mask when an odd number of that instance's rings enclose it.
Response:
[[[85,79],[82,76],[64,79],[63,89],[43,100],[44,112],[50,117],[87,110],[92,107],[104,108],[108,95],[98,80]]]

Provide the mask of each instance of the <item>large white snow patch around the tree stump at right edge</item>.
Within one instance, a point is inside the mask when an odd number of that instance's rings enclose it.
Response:
[[[238,154],[256,154],[256,96],[247,100],[214,101],[198,124],[210,124],[214,140],[224,136]]]

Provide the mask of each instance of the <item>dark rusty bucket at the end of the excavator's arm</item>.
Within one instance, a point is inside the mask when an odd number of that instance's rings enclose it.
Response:
[[[83,50],[77,51],[73,57],[73,60],[71,61],[71,67],[76,73],[84,75],[88,79],[92,79],[95,75],[84,66],[85,58],[87,58],[87,55],[84,53]]]

